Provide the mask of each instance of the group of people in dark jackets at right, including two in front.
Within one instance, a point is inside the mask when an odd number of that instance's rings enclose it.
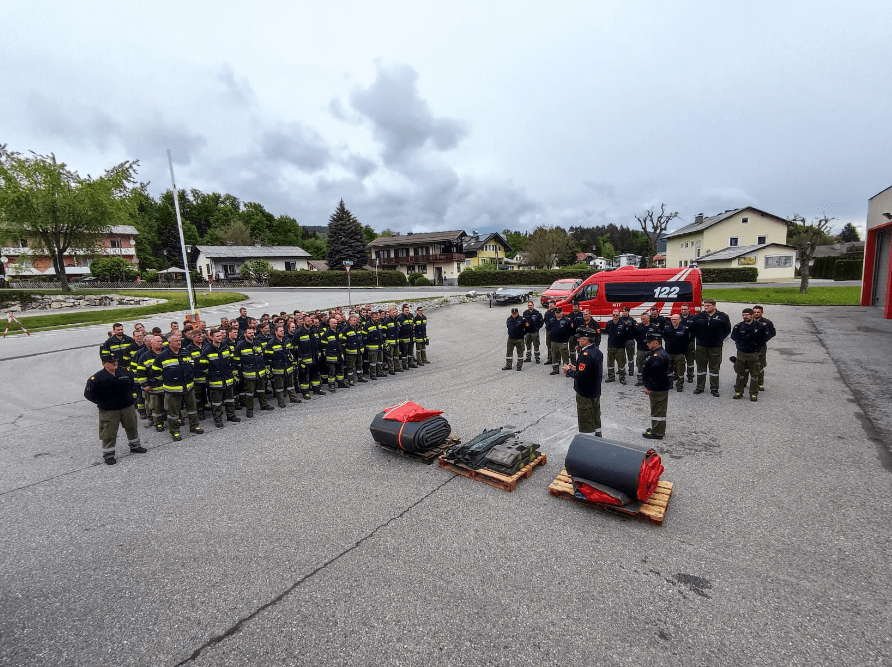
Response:
[[[714,299],[705,299],[702,310],[696,314],[691,313],[688,304],[682,304],[679,311],[666,318],[653,306],[636,321],[630,308],[623,306],[614,310],[602,326],[578,303],[573,304],[572,312],[564,314],[550,301],[543,315],[529,301],[523,315],[513,308],[508,317],[503,370],[512,368],[515,351],[518,371],[533,356],[535,363],[540,363],[539,332],[545,329],[545,364],[552,365],[551,375],[557,375],[561,368],[574,379],[581,432],[601,435],[601,382],[616,382],[619,376],[619,382],[626,384],[627,372],[631,378],[637,371],[635,386],[644,387],[651,403],[651,427],[642,435],[662,439],[666,434],[669,391],[674,384],[677,392],[683,392],[685,379],[694,382],[695,364],[694,394],[706,391],[708,377],[710,392],[715,397],[720,395],[722,346],[730,335],[737,347],[736,356],[731,357],[737,374],[734,398],[743,398],[749,383],[750,401],[758,401],[759,392],[765,391],[768,341],[776,335],[762,306],[744,308],[743,321],[733,327],[729,317],[716,308]],[[606,379],[604,354],[598,349],[604,334]]]

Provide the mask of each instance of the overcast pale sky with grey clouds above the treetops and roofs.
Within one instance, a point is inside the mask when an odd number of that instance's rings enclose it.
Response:
[[[892,185],[892,3],[6,3],[0,143],[306,225],[863,229]]]

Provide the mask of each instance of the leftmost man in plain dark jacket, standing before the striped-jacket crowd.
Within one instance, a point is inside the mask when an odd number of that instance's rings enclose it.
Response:
[[[114,465],[117,463],[115,443],[118,439],[118,426],[124,427],[131,452],[145,454],[146,449],[139,443],[136,411],[133,409],[133,376],[123,368],[118,368],[118,360],[111,350],[102,350],[99,358],[102,360],[102,370],[87,380],[84,398],[99,408],[102,459],[106,465]]]

